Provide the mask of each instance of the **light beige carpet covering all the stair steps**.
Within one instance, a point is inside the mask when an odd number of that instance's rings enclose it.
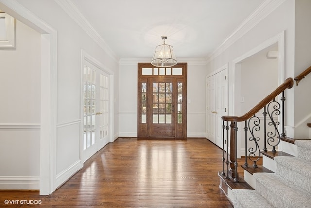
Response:
[[[297,157],[276,156],[276,173],[254,173],[255,190],[232,189],[235,208],[310,208],[311,140],[296,140]]]

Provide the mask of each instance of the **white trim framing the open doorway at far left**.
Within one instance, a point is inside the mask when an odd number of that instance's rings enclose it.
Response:
[[[49,195],[56,189],[57,32],[16,0],[0,6],[41,34],[40,195]]]

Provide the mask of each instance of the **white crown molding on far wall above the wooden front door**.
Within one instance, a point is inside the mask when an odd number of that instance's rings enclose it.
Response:
[[[187,63],[188,65],[207,65],[205,58],[178,58],[178,63]],[[137,65],[137,63],[150,63],[151,58],[121,58],[119,65]]]

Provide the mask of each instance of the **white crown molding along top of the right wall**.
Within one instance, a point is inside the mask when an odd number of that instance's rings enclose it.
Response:
[[[247,19],[245,19],[233,33],[228,36],[223,43],[216,48],[216,50],[207,57],[207,63],[212,61],[215,57],[219,56],[226,49],[228,49],[238,39],[242,38],[248,31],[256,26],[262,19],[267,17],[277,7],[279,7],[286,0],[266,0],[258,9],[253,12]]]

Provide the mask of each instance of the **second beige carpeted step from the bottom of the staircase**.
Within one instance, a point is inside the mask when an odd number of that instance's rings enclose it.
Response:
[[[276,173],[255,173],[256,191],[279,208],[310,208],[310,193]]]

